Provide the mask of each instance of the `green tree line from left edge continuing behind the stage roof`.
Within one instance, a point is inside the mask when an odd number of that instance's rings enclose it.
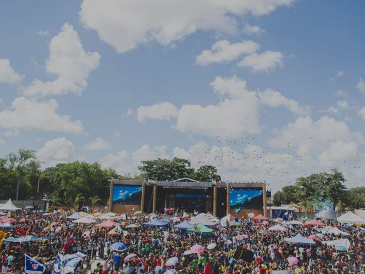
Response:
[[[203,165],[197,170],[189,160],[156,159],[142,161],[141,174],[118,174],[112,168],[102,168],[97,162],[73,161],[42,168],[35,151],[19,149],[0,158],[0,200],[37,200],[46,198],[55,205],[106,204],[109,198],[109,179],[176,180],[184,177],[215,182],[220,181],[215,167]],[[17,191],[18,190],[18,191]],[[18,196],[18,197],[17,197]]]

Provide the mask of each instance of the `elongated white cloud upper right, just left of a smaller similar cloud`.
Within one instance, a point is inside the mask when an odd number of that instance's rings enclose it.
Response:
[[[237,59],[242,54],[251,54],[260,48],[260,45],[253,41],[242,41],[231,44],[227,40],[215,42],[211,50],[203,50],[196,57],[195,64],[207,66],[212,63],[228,63]]]

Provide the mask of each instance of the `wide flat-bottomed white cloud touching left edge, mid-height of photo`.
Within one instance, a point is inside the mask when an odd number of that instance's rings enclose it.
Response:
[[[0,126],[5,129],[44,130],[65,133],[84,133],[79,120],[70,121],[69,115],[59,115],[55,111],[55,99],[38,102],[19,97],[12,103],[12,110],[0,112]]]

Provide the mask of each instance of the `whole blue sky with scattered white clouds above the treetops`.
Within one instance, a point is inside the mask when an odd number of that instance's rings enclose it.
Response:
[[[0,153],[365,179],[363,1],[6,1]]]

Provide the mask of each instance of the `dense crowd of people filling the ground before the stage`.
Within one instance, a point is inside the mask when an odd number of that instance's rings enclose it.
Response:
[[[74,273],[251,273],[268,274],[272,271],[294,271],[296,274],[365,274],[365,229],[347,226],[342,231],[349,236],[329,233],[319,234],[315,226],[282,224],[284,231],[269,231],[277,224],[274,221],[239,220],[238,225],[219,225],[207,235],[199,231],[186,233],[184,229],[174,229],[177,222],[190,220],[183,212],[170,212],[173,218],[165,227],[143,226],[149,220],[145,213],[128,214],[125,218],[115,216],[122,232],[108,234],[112,228],[96,228],[93,224],[76,224],[66,218],[71,213],[37,213],[27,210],[4,212],[6,220],[14,227],[1,228],[6,239],[1,244],[1,273],[24,273],[25,254],[35,258],[45,266],[44,273],[52,273],[57,255],[76,254],[85,256],[73,270]],[[124,217],[124,216],[123,216]],[[166,213],[155,218],[166,217]],[[104,222],[105,220],[98,220]],[[341,224],[322,220],[328,226]],[[136,224],[135,228],[126,228]],[[14,243],[9,237],[19,237],[19,233],[39,237],[37,240]],[[315,244],[293,244],[284,240],[300,233],[304,237],[315,235]],[[24,235],[24,234],[23,234]],[[244,237],[242,237],[242,235]],[[319,236],[318,236],[319,235]],[[241,236],[241,237],[238,237]],[[313,237],[313,236],[312,236]],[[350,247],[338,250],[323,241],[347,238]],[[314,238],[314,237],[313,237]],[[114,248],[115,243],[120,243]],[[207,248],[209,244],[214,248]],[[200,252],[186,252],[194,245],[200,245]],[[253,252],[251,260],[238,259],[237,248]],[[185,255],[184,255],[185,252]],[[176,257],[171,265],[168,260]],[[297,263],[288,258],[295,257]]]

